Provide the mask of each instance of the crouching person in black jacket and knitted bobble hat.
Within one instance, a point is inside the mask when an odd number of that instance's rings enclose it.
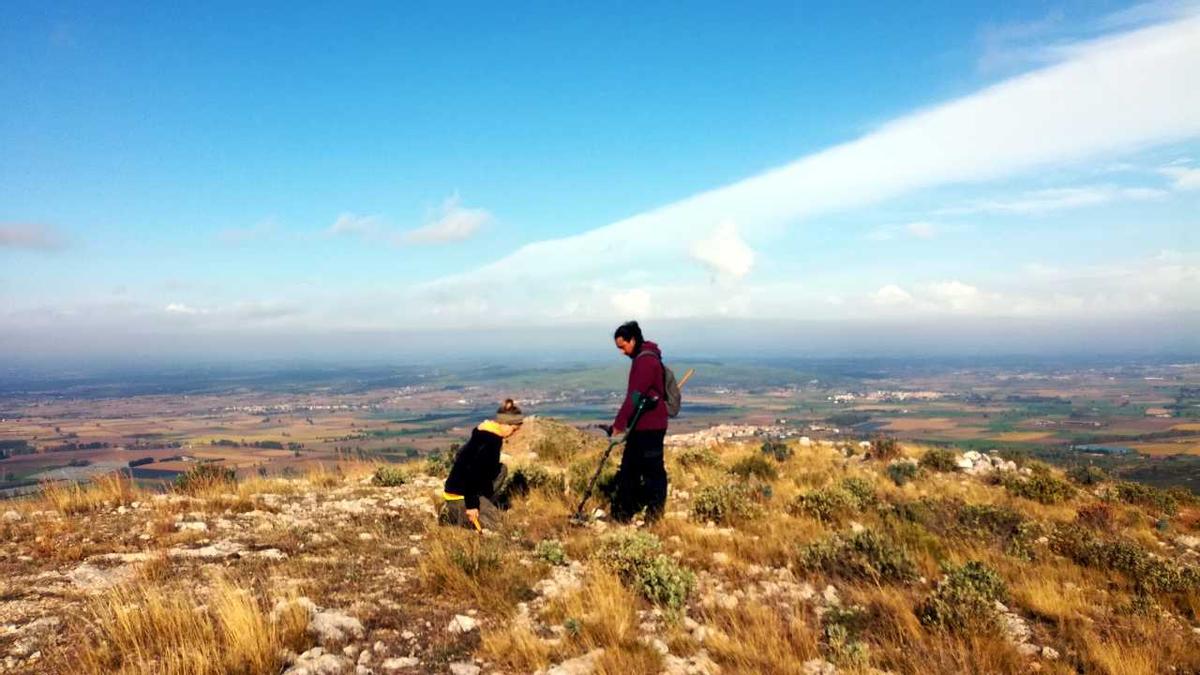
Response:
[[[439,521],[474,530],[497,530],[500,509],[496,495],[508,476],[508,467],[500,464],[504,440],[521,429],[524,416],[512,399],[496,411],[496,419],[485,420],[470,432],[446,478]]]

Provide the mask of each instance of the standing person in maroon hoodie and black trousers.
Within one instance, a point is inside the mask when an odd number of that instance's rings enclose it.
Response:
[[[613,341],[620,353],[634,363],[629,366],[629,387],[625,401],[617,411],[611,434],[629,429],[634,416],[635,394],[658,401],[646,408],[637,426],[625,437],[625,450],[617,471],[617,490],[612,500],[613,520],[629,521],[646,508],[646,520],[653,522],[662,516],[667,501],[667,470],[662,464],[662,441],[667,435],[667,406],[664,399],[662,352],[654,342],[642,338],[636,321],[617,327]]]

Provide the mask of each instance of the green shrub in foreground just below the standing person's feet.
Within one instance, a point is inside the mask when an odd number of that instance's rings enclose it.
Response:
[[[648,532],[614,532],[600,540],[596,556],[646,599],[679,610],[696,587],[696,575],[661,550],[662,543]]]

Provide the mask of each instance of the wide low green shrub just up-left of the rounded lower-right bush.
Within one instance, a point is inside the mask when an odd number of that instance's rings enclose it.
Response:
[[[800,546],[797,562],[802,568],[824,572],[841,579],[870,581],[911,581],[917,566],[908,554],[874,530],[848,537],[834,534]]]

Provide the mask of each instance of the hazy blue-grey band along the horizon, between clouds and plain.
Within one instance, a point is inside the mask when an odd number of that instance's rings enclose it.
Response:
[[[1200,313],[1133,321],[644,321],[668,358],[1200,358]],[[613,325],[323,334],[179,333],[0,338],[13,365],[106,363],[504,363],[618,360]]]

